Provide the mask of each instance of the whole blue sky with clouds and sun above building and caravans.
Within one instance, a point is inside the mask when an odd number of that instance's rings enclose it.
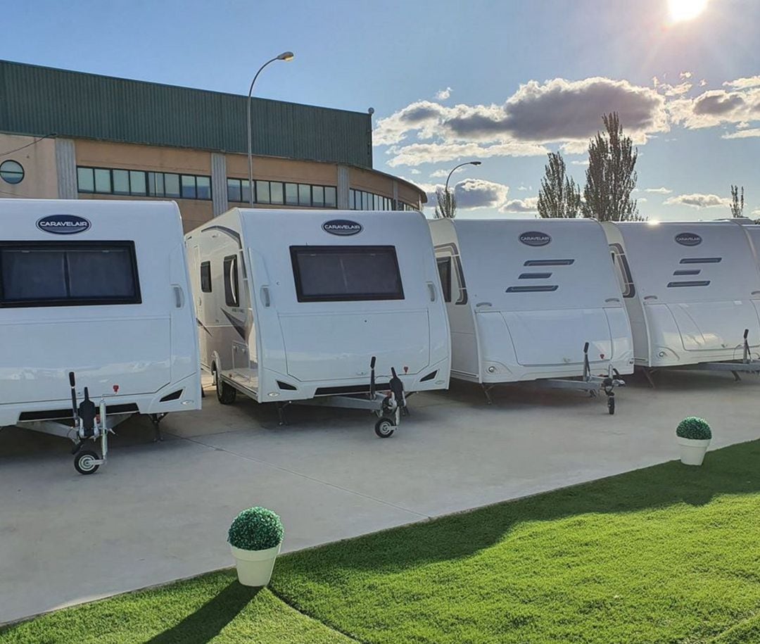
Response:
[[[582,186],[610,111],[642,215],[725,217],[736,184],[760,217],[760,0],[25,0],[2,33],[0,59],[235,94],[292,50],[255,94],[374,108],[375,168],[430,193],[480,160],[459,217],[535,217],[549,151]]]

